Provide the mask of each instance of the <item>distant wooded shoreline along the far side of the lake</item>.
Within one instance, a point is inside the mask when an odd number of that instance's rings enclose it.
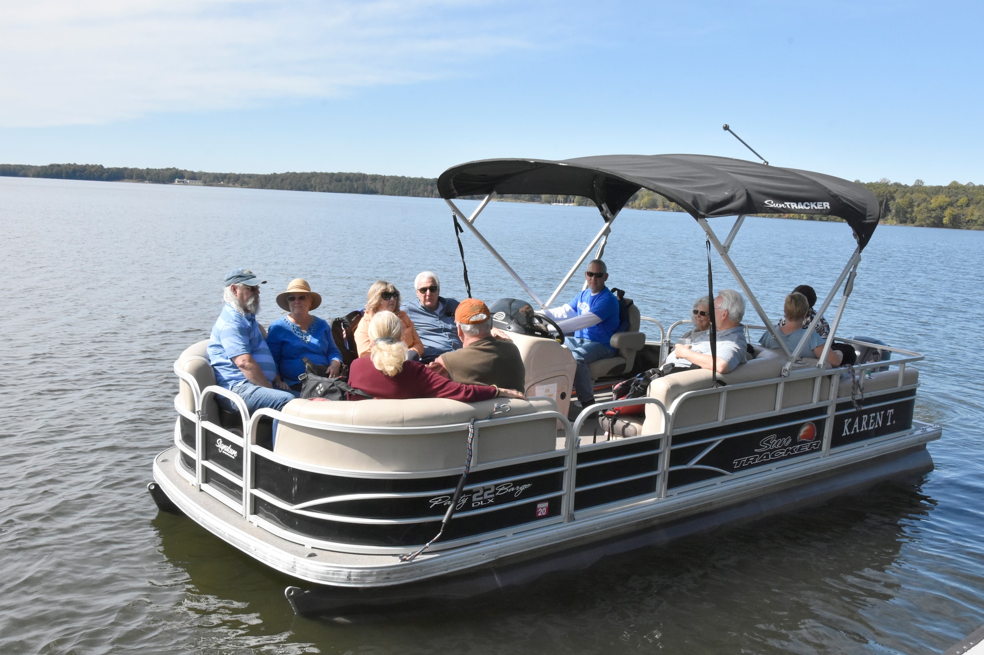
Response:
[[[337,194],[370,194],[439,198],[437,178],[366,173],[209,173],[183,168],[106,168],[99,164],[0,164],[0,176],[46,177],[63,180],[117,182],[133,180],[155,184],[172,184],[174,180],[198,180],[203,184],[247,189],[282,191],[316,191]],[[855,180],[860,182],[860,180]],[[882,222],[897,225],[984,229],[984,185],[951,182],[946,186],[926,186],[922,180],[912,185],[882,178],[868,182],[882,207]],[[581,196],[513,195],[498,200],[521,203],[545,203],[590,207],[593,203]],[[683,211],[676,203],[647,190],[637,192],[626,204],[633,209]],[[805,220],[839,220],[815,214],[761,214]]]

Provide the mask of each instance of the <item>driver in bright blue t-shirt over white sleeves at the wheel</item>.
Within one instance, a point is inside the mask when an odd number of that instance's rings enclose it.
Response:
[[[618,298],[605,287],[608,268],[601,260],[591,260],[584,271],[587,288],[562,307],[545,310],[565,334],[564,345],[571,349],[578,371],[574,386],[583,407],[594,404],[594,383],[587,365],[614,357],[618,352],[608,342],[618,329]]]

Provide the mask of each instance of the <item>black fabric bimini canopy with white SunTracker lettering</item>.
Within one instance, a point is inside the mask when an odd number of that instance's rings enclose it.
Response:
[[[442,198],[496,194],[583,196],[613,214],[640,189],[673,201],[695,218],[743,213],[839,216],[868,245],[881,218],[867,187],[839,177],[705,154],[607,154],[549,159],[483,159],[438,178]]]

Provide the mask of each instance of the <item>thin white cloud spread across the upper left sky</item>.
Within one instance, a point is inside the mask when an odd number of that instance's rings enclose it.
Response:
[[[503,3],[6,2],[0,126],[106,123],[438,79],[475,57],[535,47],[535,21],[497,20]]]

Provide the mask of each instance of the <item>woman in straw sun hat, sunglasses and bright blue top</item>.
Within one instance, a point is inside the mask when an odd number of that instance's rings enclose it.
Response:
[[[321,295],[311,290],[306,280],[290,280],[287,290],[277,294],[277,305],[287,312],[270,324],[267,344],[277,363],[277,380],[280,388],[301,390],[300,375],[304,373],[302,357],[312,364],[328,366],[328,375],[338,376],[341,370],[341,353],[332,337],[332,327],[324,319],[311,314],[321,305]]]

